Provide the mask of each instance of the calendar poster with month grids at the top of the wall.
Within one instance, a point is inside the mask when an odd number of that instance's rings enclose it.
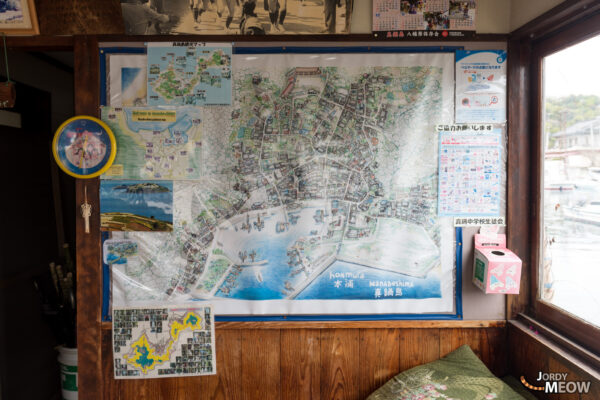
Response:
[[[468,38],[476,14],[475,0],[373,0],[373,33],[407,40]]]

